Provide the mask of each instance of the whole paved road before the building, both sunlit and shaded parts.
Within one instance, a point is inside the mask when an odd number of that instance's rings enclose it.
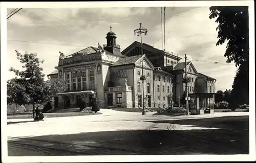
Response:
[[[45,156],[249,151],[247,112],[189,115],[187,119],[102,111],[102,115],[49,118],[40,122],[9,121],[13,124],[7,127],[8,153]]]

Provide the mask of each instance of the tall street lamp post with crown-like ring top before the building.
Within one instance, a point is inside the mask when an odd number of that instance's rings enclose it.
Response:
[[[140,36],[140,43],[141,43],[141,67],[142,67],[142,76],[140,79],[142,80],[142,115],[146,114],[145,110],[145,99],[144,99],[144,80],[145,77],[143,74],[143,45],[142,45],[142,34],[146,35],[147,34],[147,29],[141,26],[142,23],[140,23],[140,27],[134,30],[134,35],[137,34],[137,36]]]

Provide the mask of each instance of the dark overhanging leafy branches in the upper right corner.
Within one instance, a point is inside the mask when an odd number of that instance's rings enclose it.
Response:
[[[239,66],[249,61],[249,19],[247,6],[212,6],[209,18],[217,17],[218,38],[216,45],[227,42],[227,63],[234,61]]]

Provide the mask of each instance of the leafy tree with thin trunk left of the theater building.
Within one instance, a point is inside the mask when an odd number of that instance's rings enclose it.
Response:
[[[20,54],[16,52],[17,59],[23,63],[23,71],[11,67],[10,72],[15,73],[16,78],[7,83],[7,94],[19,104],[33,105],[33,118],[35,118],[35,104],[44,104],[58,89],[65,90],[67,84],[61,80],[45,81],[40,61],[36,53],[27,52]]]

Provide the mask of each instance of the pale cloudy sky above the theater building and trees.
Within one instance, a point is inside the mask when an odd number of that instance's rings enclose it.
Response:
[[[7,14],[12,10],[7,9]],[[216,91],[231,89],[237,68],[226,63],[226,44],[216,46],[218,24],[209,19],[209,13],[209,7],[166,7],[165,50],[182,58],[186,54],[188,61],[198,60],[192,61],[197,71],[217,79]],[[47,75],[55,70],[59,51],[67,56],[88,46],[97,47],[98,42],[105,44],[110,26],[123,50],[138,40],[134,30],[140,22],[148,30],[143,42],[164,49],[160,7],[23,8],[7,20],[7,71],[10,67],[22,68],[15,54],[18,50],[37,53],[45,60],[41,66]],[[7,79],[15,77],[9,71],[6,75]]]

